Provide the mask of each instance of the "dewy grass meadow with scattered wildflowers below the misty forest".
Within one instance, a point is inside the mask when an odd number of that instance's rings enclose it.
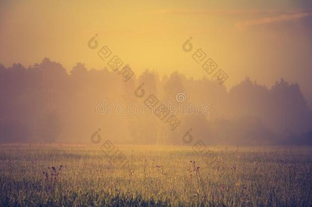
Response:
[[[0,146],[1,206],[311,206],[312,148]]]

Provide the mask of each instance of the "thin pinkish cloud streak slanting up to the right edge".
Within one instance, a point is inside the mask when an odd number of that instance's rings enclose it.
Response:
[[[257,26],[257,25],[269,25],[269,24],[274,24],[274,23],[283,22],[283,21],[296,21],[298,19],[308,17],[308,16],[312,16],[312,11],[282,14],[279,16],[263,17],[260,19],[253,19],[253,20],[244,20],[244,21],[237,22],[235,26],[238,28],[246,28],[246,27]]]

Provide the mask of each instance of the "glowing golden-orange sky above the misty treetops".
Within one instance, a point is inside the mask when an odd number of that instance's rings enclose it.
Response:
[[[101,69],[107,61],[87,47],[95,34],[138,75],[211,78],[192,59],[202,49],[228,74],[227,88],[246,76],[269,87],[284,78],[312,104],[312,1],[0,1],[5,66],[48,57],[69,72],[77,62]]]

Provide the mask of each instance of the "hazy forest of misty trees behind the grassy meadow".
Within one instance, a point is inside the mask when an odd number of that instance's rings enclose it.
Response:
[[[144,98],[138,98],[138,90]],[[177,94],[186,99],[177,100]],[[162,103],[206,104],[209,111],[175,114],[174,130],[155,114],[97,111],[103,100],[142,104],[149,95]],[[312,144],[311,109],[300,86],[283,78],[268,88],[246,76],[227,89],[205,76],[146,70],[124,81],[108,68],[77,63],[66,71],[44,58],[29,67],[0,64],[0,96],[1,143],[91,143],[100,129],[102,138],[124,144],[187,145],[186,134],[207,145]]]

